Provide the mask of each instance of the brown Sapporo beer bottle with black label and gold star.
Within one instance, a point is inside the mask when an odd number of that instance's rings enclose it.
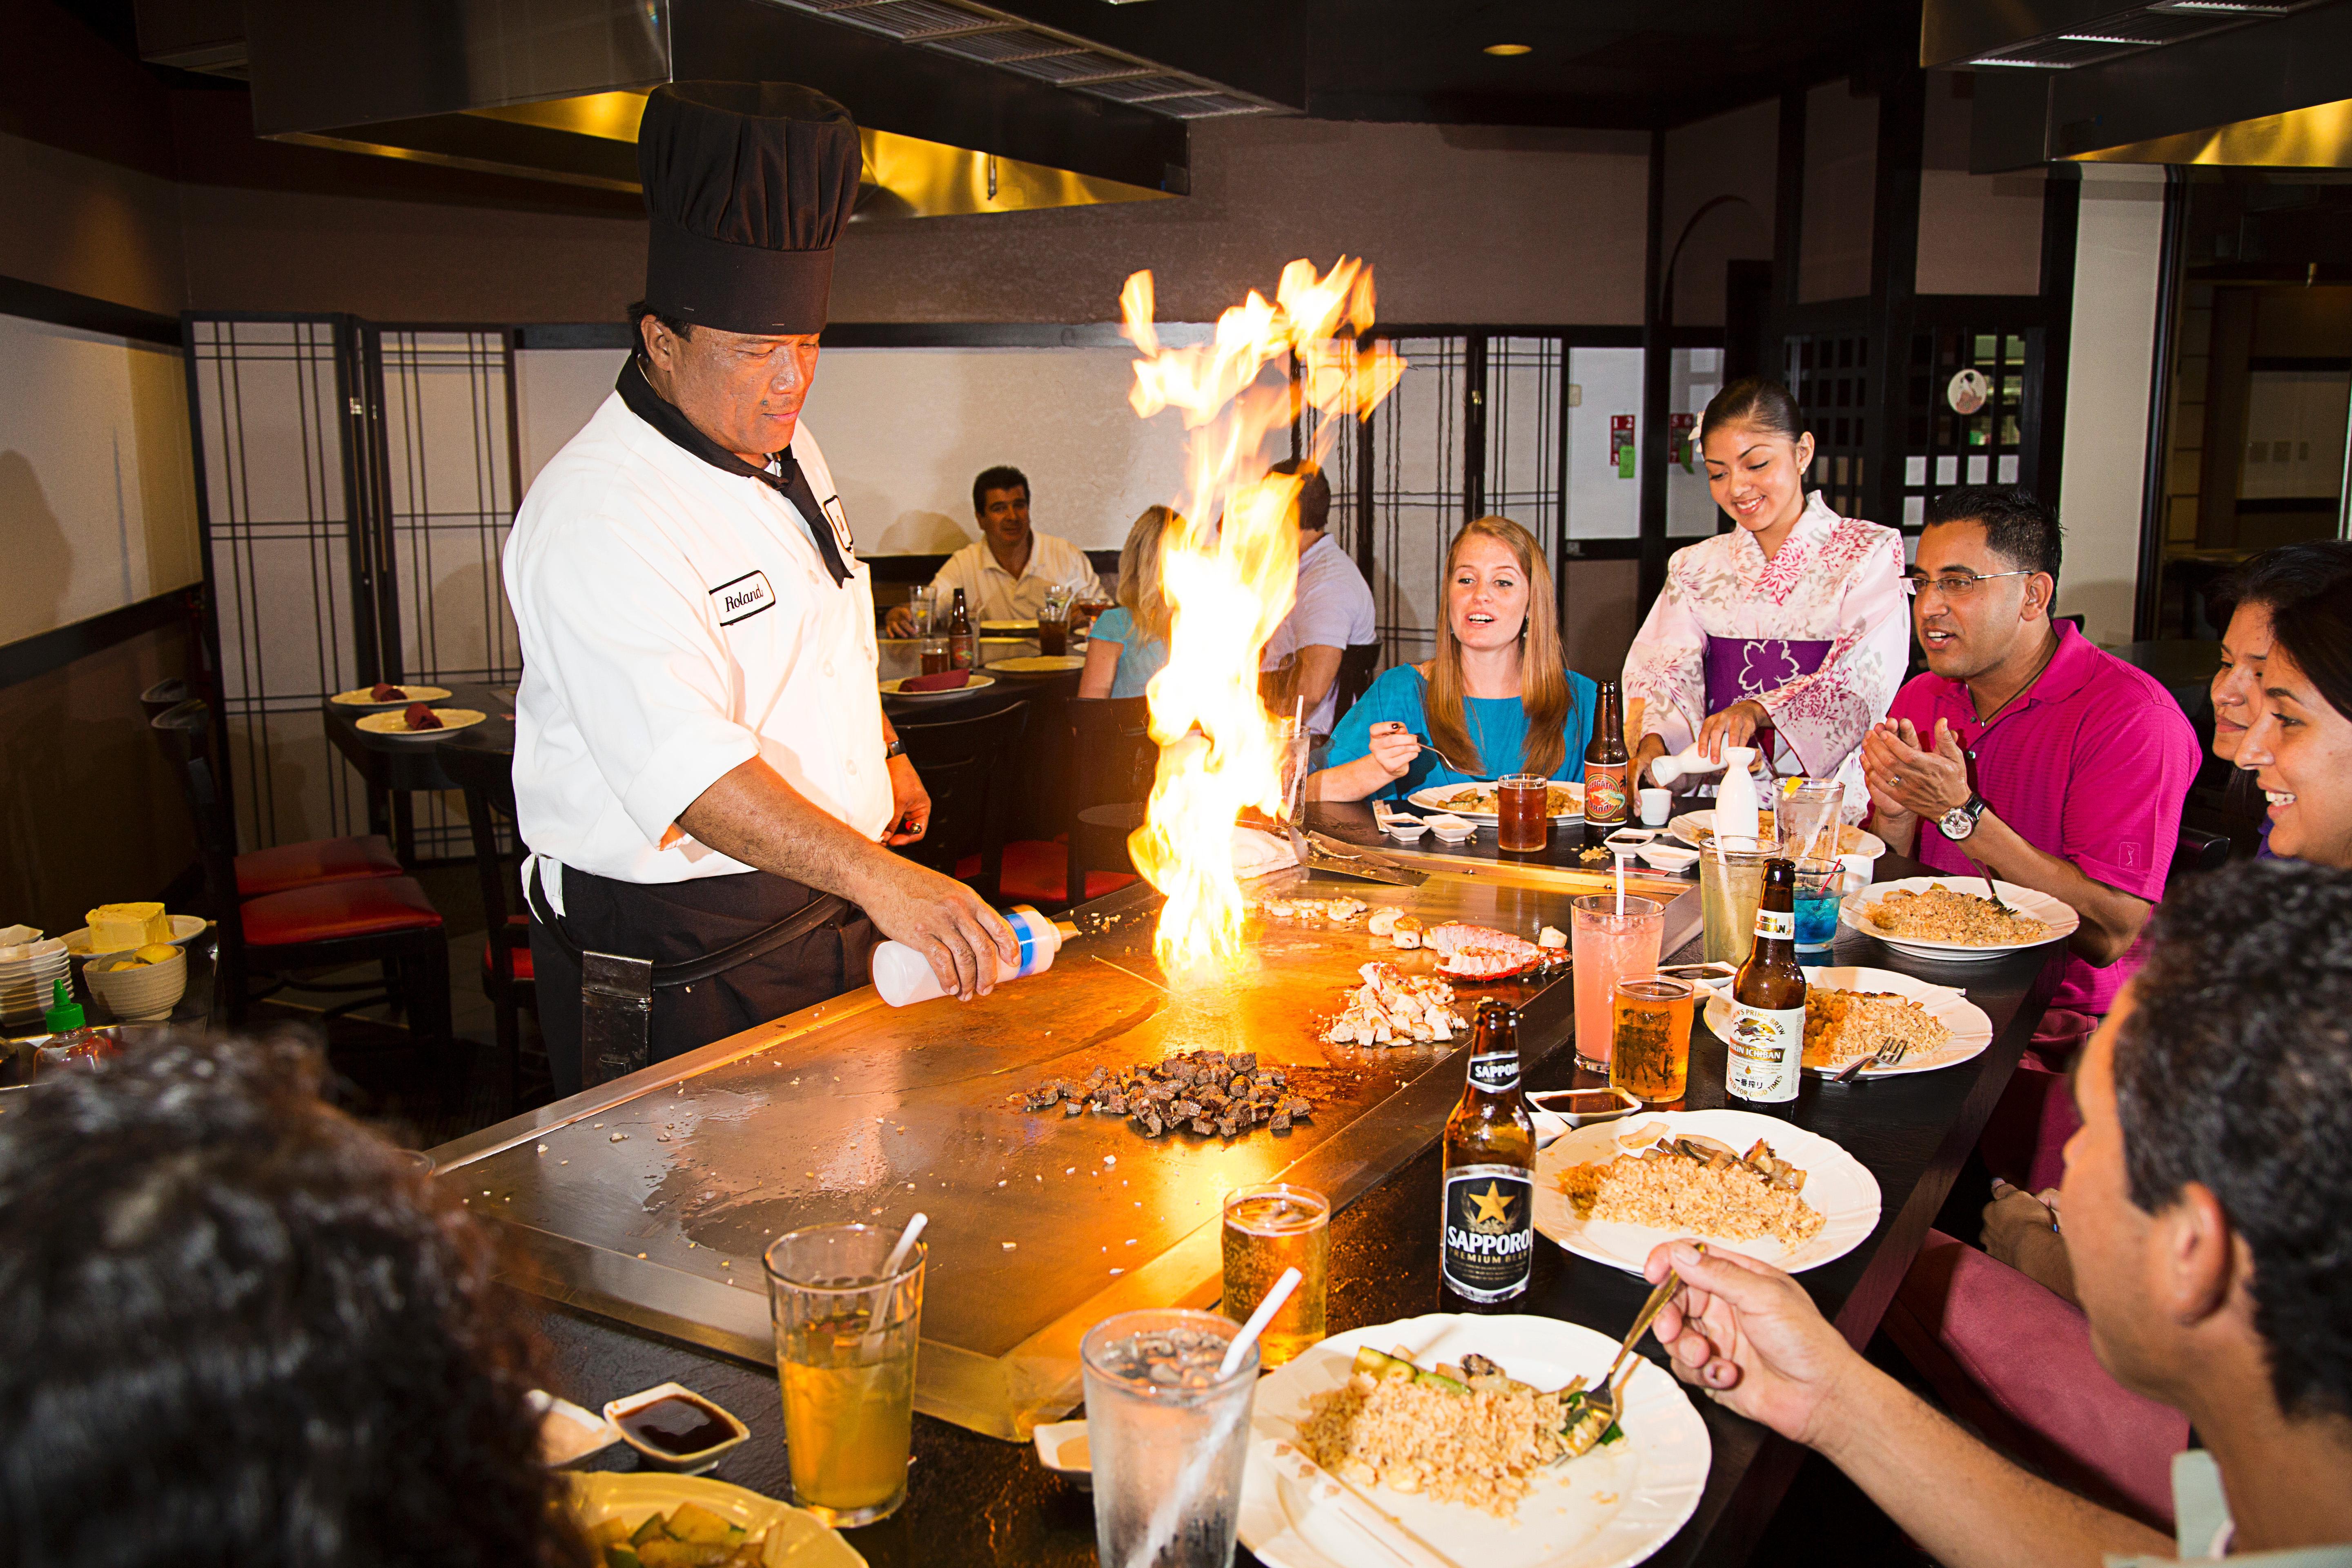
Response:
[[[1494,1309],[1536,1262],[1536,1124],[1519,1100],[1519,1013],[1479,1001],[1470,1081],[1446,1117],[1439,1274],[1449,1305]]]

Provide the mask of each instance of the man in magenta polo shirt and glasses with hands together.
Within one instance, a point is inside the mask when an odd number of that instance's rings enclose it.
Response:
[[[1929,668],[1863,738],[1872,830],[1896,853],[1990,870],[2082,917],[2025,1081],[1985,1145],[1992,1171],[2027,1190],[2056,1178],[2070,1126],[2063,1112],[2042,1126],[2042,1100],[2131,978],[2201,762],[2154,677],[2051,621],[2058,557],[2058,520],[2023,489],[1936,496],[1903,578]]]

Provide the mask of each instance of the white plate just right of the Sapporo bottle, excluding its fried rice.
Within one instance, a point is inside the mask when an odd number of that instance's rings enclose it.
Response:
[[[1649,1128],[1639,1145],[1623,1143],[1637,1128]],[[1757,1138],[1771,1145],[1773,1154],[1804,1171],[1804,1190],[1797,1194],[1820,1215],[1820,1227],[1802,1239],[1778,1234],[1715,1234],[1708,1225],[1651,1225],[1616,1218],[1585,1218],[1576,1213],[1562,1187],[1569,1166],[1606,1166],[1618,1154],[1639,1154],[1639,1147],[1661,1135],[1698,1133],[1748,1152]],[[1778,1199],[1773,1199],[1778,1201]],[[1748,1110],[1663,1110],[1635,1112],[1623,1121],[1602,1121],[1566,1133],[1550,1147],[1536,1150],[1536,1229],[1569,1248],[1578,1258],[1592,1258],[1632,1274],[1642,1272],[1649,1253],[1661,1241],[1698,1237],[1708,1246],[1745,1253],[1790,1274],[1818,1269],[1844,1258],[1879,1225],[1879,1178],[1870,1175],[1863,1161],[1842,1147],[1809,1133],[1778,1117],[1759,1117]]]

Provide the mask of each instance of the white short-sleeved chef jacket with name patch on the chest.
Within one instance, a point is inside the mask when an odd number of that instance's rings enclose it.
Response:
[[[539,470],[506,538],[506,597],[522,632],[517,830],[543,872],[557,860],[652,884],[753,870],[689,837],[661,846],[753,757],[882,837],[873,585],[807,423],[793,458],[847,583],[790,501],[677,447],[619,393]]]

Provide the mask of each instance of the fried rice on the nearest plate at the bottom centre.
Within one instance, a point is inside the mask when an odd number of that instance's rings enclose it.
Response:
[[[1566,1394],[1510,1378],[1465,1378],[1468,1396],[1414,1380],[1352,1373],[1315,1394],[1298,1448],[1334,1476],[1512,1519],[1534,1472],[1566,1443]]]

